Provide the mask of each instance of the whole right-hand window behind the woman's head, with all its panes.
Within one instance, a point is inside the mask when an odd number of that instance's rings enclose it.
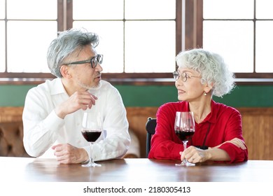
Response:
[[[271,0],[203,0],[203,48],[223,55],[237,78],[272,81],[272,7]]]

